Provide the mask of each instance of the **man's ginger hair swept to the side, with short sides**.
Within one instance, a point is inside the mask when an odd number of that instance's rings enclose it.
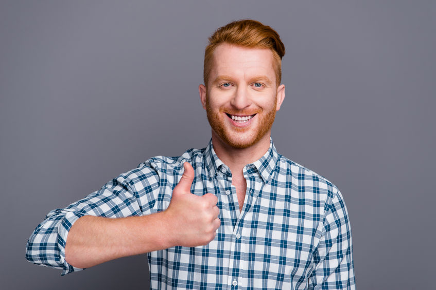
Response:
[[[231,22],[218,28],[211,37],[204,52],[203,81],[207,86],[211,72],[215,48],[220,44],[232,44],[247,48],[268,48],[274,57],[274,70],[277,86],[282,80],[282,57],[285,45],[280,35],[269,26],[247,19]]]

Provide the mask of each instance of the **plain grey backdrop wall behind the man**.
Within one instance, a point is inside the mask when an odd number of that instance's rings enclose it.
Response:
[[[240,18],[286,45],[274,143],[342,191],[358,288],[434,288],[434,3],[1,1],[1,288],[148,288],[145,255],[61,277],[25,260],[27,238],[149,157],[207,144],[203,50]]]

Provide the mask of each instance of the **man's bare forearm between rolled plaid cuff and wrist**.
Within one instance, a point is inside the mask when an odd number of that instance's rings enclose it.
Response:
[[[65,260],[79,268],[173,246],[164,212],[127,218],[83,216],[69,230]]]

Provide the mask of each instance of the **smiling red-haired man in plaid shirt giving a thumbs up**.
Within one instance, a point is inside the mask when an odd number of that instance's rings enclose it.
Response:
[[[354,289],[339,190],[277,153],[285,47],[269,26],[219,28],[206,47],[204,149],[155,157],[50,211],[26,257],[63,275],[148,253],[152,288]]]

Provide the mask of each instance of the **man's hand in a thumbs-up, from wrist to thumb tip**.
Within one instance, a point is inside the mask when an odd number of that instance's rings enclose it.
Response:
[[[166,226],[170,228],[171,244],[187,247],[206,245],[215,238],[220,225],[216,206],[218,199],[213,194],[201,197],[191,194],[194,168],[188,162],[183,167],[183,176],[172,191],[171,202],[164,211],[168,218]]]

